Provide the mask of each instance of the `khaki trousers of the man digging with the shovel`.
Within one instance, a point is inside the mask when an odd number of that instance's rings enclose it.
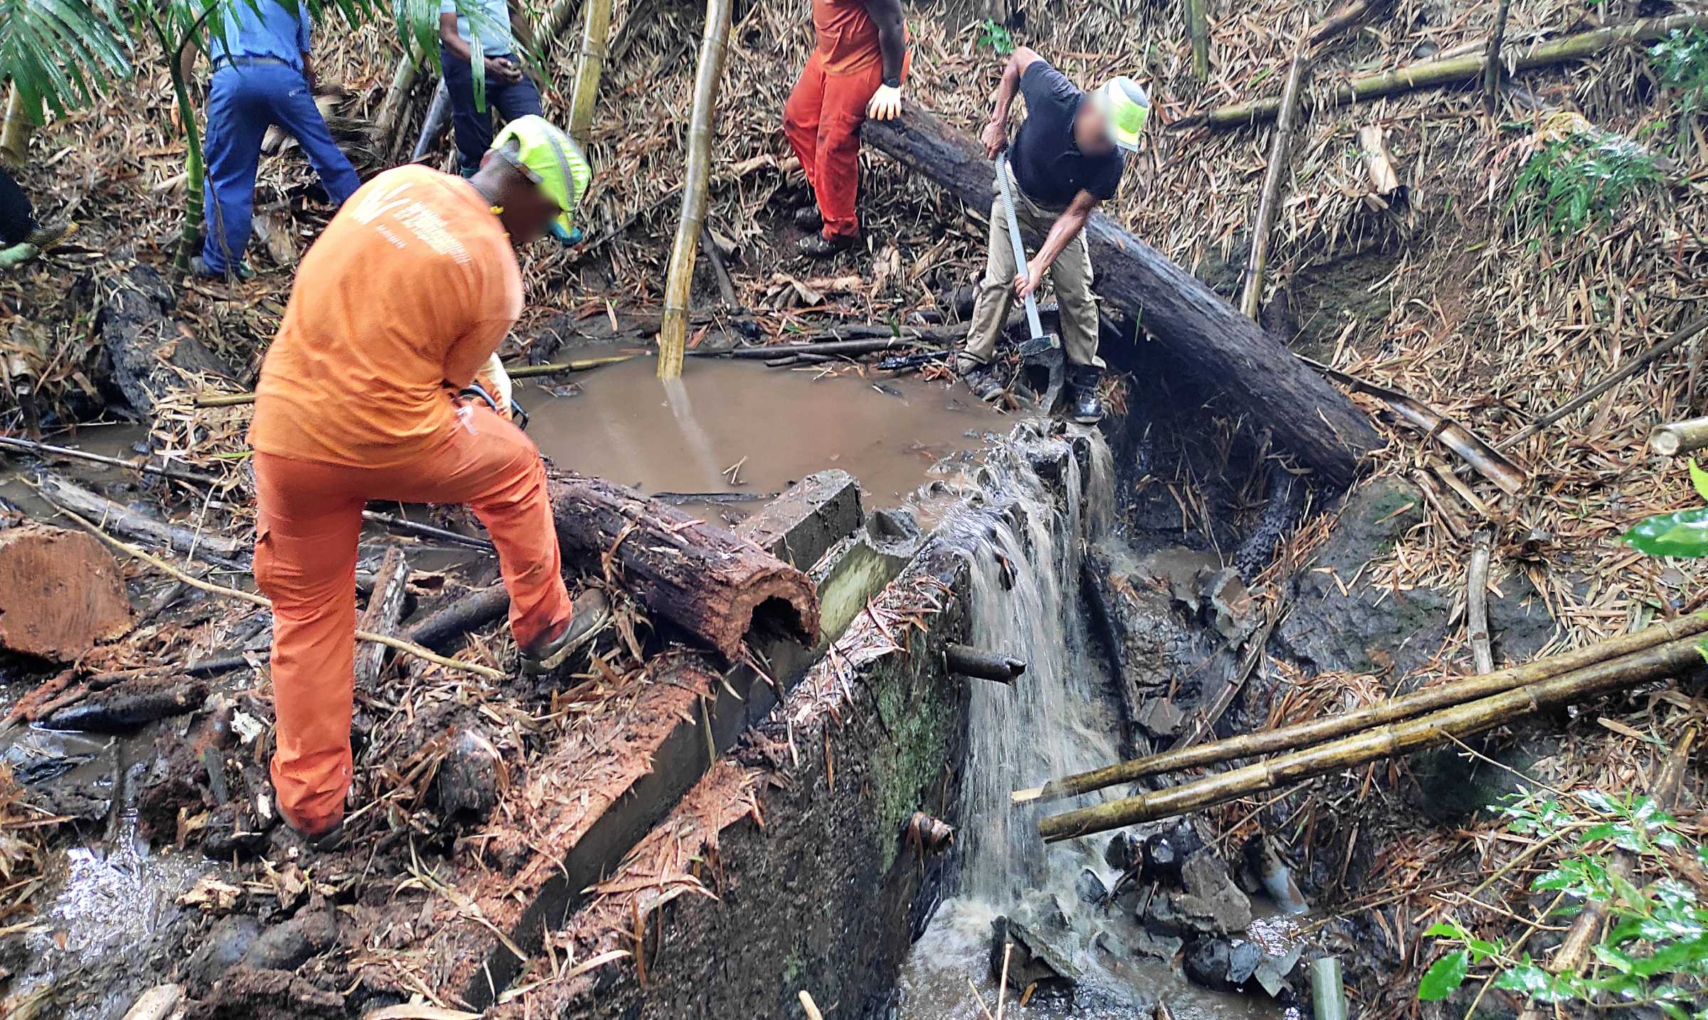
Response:
[[[1015,196],[1015,217],[1020,229],[1037,230],[1040,237],[1049,235],[1059,210],[1045,210],[1027,198],[1015,172],[1003,164],[1008,174],[1009,189]],[[996,184],[991,184],[996,191]],[[989,363],[996,353],[996,338],[1003,333],[1003,322],[1015,307],[1015,246],[1008,239],[1008,210],[1003,208],[1003,193],[996,191],[991,201],[991,239],[987,242],[984,280],[975,288],[972,304],[972,327],[967,331],[967,346],[962,348],[962,360]],[[1056,304],[1061,307],[1062,348],[1069,365],[1103,367],[1097,356],[1097,300],[1091,297],[1091,251],[1085,244],[1085,230],[1068,242],[1062,254],[1056,256],[1049,271],[1056,283]]]

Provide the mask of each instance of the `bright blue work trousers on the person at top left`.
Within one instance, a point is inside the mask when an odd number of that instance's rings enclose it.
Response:
[[[343,205],[362,181],[331,140],[302,72],[284,63],[220,63],[208,84],[207,241],[202,258],[214,273],[243,261],[254,210],[254,171],[261,136],[278,125],[302,145],[333,205]]]

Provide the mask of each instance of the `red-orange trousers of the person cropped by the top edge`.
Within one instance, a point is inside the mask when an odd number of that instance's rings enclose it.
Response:
[[[782,107],[782,133],[789,136],[789,147],[818,198],[825,237],[859,234],[859,215],[854,212],[859,126],[866,123],[866,104],[881,84],[881,60],[864,70],[832,75],[815,49]]]

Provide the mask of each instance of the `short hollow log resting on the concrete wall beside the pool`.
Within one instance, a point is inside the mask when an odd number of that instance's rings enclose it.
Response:
[[[818,592],[799,570],[733,532],[630,488],[576,474],[552,481],[567,558],[606,573],[656,616],[726,658],[755,626],[818,640]]]

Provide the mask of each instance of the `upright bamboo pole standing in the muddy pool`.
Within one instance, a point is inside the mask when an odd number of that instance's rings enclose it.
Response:
[[[676,242],[670,249],[664,317],[658,329],[658,377],[666,380],[681,377],[681,353],[688,346],[688,292],[693,287],[693,256],[700,251],[700,227],[705,223],[705,184],[712,176],[712,114],[717,109],[717,84],[724,77],[729,3],[731,0],[705,0],[705,34],[700,36],[700,70],[693,78],[681,217],[676,220]]]

